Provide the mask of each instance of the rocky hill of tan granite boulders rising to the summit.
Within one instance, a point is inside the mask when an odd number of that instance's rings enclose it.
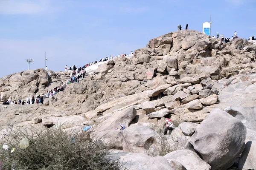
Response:
[[[256,45],[244,39],[171,32],[133,57],[99,65],[43,103],[1,104],[0,139],[10,127],[91,126],[123,170],[256,169],[255,59]],[[1,101],[43,95],[69,77],[44,69],[5,76]],[[163,135],[166,119],[175,129]]]

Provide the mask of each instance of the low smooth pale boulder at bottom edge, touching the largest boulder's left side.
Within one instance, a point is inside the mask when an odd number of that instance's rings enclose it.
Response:
[[[164,156],[169,162],[178,161],[187,170],[210,170],[211,166],[191,150],[176,150]]]

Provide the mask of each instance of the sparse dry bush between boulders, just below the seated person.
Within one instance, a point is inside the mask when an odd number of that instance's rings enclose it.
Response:
[[[175,150],[184,148],[189,137],[180,135],[177,131],[172,130],[172,134],[164,135],[163,130],[159,126],[149,126],[151,130],[156,131],[159,136],[157,143],[154,144],[154,149],[148,151],[149,156],[165,156]]]

